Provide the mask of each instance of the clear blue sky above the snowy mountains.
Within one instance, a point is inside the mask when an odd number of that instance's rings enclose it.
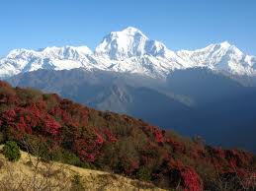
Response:
[[[14,48],[87,45],[128,26],[172,50],[227,40],[256,55],[254,0],[1,0],[0,57]]]

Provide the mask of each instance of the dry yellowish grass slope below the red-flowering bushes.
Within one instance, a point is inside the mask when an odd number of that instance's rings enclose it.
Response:
[[[82,190],[161,190],[150,183],[121,175],[58,162],[40,161],[35,168],[38,159],[26,152],[21,154],[17,162],[7,161],[0,154],[0,190],[74,190],[72,180],[75,175],[79,176]]]

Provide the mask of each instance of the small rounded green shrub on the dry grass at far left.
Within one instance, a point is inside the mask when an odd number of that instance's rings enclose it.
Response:
[[[21,152],[16,142],[8,141],[3,147],[3,154],[10,161],[18,161],[21,158]]]

